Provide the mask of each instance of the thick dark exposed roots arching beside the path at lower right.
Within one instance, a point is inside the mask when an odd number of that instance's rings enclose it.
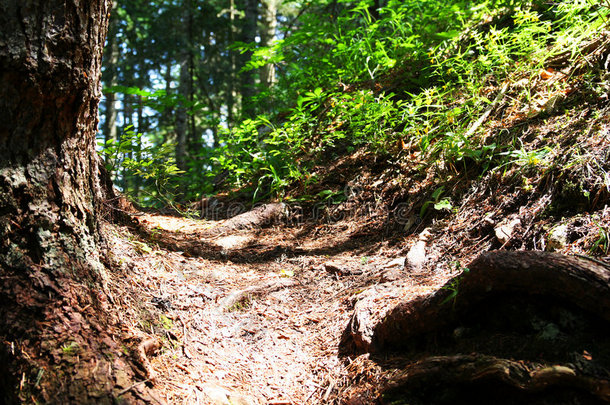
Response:
[[[478,384],[500,388],[475,403],[556,391],[557,403],[610,402],[610,269],[603,262],[488,252],[434,294],[399,304],[374,325],[362,311],[344,333],[344,353],[399,350],[411,359],[384,387],[390,403],[460,401]],[[510,394],[503,399],[504,391]]]

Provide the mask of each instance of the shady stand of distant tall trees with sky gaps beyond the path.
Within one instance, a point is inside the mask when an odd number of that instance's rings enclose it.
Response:
[[[258,71],[244,70],[252,51],[233,45],[239,40],[253,47],[259,39],[270,45],[277,30],[277,5],[277,0],[117,1],[104,59],[101,136],[112,142],[113,128],[122,134],[114,145],[122,144],[123,152],[106,155],[110,169],[123,168],[115,174],[122,190],[141,203],[159,203],[153,182],[142,180],[137,168],[125,164],[140,160],[144,142],[173,148],[176,165],[185,171],[174,181],[180,192],[171,198],[209,191],[206,174],[213,166],[210,155],[221,144],[222,128],[260,113],[254,100],[257,83],[268,89],[275,78],[273,65],[263,66],[260,77]]]

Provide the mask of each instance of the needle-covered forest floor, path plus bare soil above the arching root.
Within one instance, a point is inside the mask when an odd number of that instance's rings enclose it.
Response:
[[[536,218],[540,200],[549,203],[540,195],[520,218]],[[136,226],[105,226],[119,269],[108,295],[123,341],[134,342],[141,380],[161,403],[370,403],[383,373],[370,369],[368,355],[340,354],[356,304],[380,319],[399,302],[438,290],[480,252],[527,246],[530,228],[534,244],[548,233],[548,219],[532,219],[513,224],[518,236],[499,239],[485,206],[472,194],[450,219],[427,227],[400,221],[398,232],[387,212],[248,229],[226,227],[226,219],[134,213]],[[560,250],[586,254],[610,209],[562,221],[573,236]],[[403,232],[408,226],[414,229]],[[350,402],[358,395],[368,399]]]

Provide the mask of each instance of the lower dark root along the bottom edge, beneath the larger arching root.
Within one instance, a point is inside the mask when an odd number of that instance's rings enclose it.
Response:
[[[438,356],[413,363],[392,376],[385,402],[413,403],[406,399],[412,398],[407,392],[416,392],[426,403],[445,403],[442,398],[449,397],[468,398],[473,404],[610,402],[607,380],[578,375],[566,366],[532,369],[521,361],[485,355]]]

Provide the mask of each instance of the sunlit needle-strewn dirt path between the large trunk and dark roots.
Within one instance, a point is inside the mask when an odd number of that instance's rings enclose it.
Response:
[[[354,305],[381,311],[446,280],[403,274],[396,241],[349,222],[211,236],[223,221],[137,218],[138,236],[105,230],[123,270],[111,299],[142,378],[169,404],[338,402]]]

